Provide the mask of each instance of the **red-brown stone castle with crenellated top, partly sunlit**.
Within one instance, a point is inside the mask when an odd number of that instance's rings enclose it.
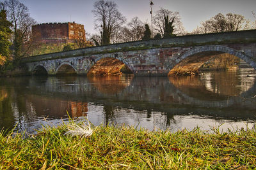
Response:
[[[75,22],[44,23],[32,26],[34,41],[41,43],[74,43],[86,41],[84,25]]]

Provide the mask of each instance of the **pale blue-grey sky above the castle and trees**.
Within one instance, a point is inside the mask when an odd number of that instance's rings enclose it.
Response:
[[[29,8],[30,17],[38,24],[47,22],[76,22],[83,24],[86,32],[94,29],[93,3],[96,0],[19,0]],[[129,22],[139,17],[142,22],[151,23],[149,0],[112,0]],[[255,22],[256,0],[153,0],[153,15],[163,7],[180,13],[186,31],[191,32],[200,22],[209,20],[218,13],[236,13]]]

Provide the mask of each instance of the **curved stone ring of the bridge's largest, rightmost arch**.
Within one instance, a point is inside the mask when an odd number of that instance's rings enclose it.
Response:
[[[182,54],[180,54],[176,59],[173,59],[171,64],[167,67],[167,71],[171,71],[173,68],[180,67],[182,65],[182,62],[191,62],[188,58],[195,57],[197,55],[200,55],[200,57],[205,57],[205,60],[202,60],[202,63],[199,63],[197,66],[197,69],[204,64],[205,61],[209,60],[209,57],[213,55],[219,55],[222,53],[229,53],[231,55],[234,55],[236,57],[239,57],[240,59],[244,60],[246,63],[248,63],[250,66],[252,66],[254,69],[256,69],[256,62],[252,59],[253,56],[246,55],[244,52],[239,52],[235,50],[234,48],[229,48],[227,46],[220,46],[220,45],[205,45],[205,46],[199,46],[196,48],[193,48],[191,50],[188,50]],[[207,56],[209,56],[207,58]],[[200,59],[199,57],[197,59]],[[195,59],[194,59],[195,60]],[[196,67],[196,64],[194,64]]]

